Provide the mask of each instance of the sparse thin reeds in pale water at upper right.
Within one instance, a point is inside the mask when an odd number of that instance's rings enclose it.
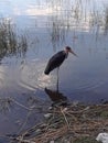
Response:
[[[91,31],[97,36],[108,30],[108,8],[96,0],[46,0],[46,4],[53,11],[47,21],[53,47],[65,43],[68,31]]]

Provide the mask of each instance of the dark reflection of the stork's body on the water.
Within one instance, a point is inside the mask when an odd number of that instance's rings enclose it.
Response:
[[[52,106],[67,106],[67,97],[65,97],[58,90],[51,90],[45,88],[45,92],[53,101]]]

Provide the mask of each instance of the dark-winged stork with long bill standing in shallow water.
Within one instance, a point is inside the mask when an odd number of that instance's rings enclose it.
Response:
[[[63,62],[68,57],[68,53],[72,53],[73,55],[77,56],[69,46],[66,46],[63,51],[57,52],[55,55],[53,55],[44,70],[45,75],[48,75],[53,69],[57,68],[57,91],[58,91],[58,69],[60,66],[63,64]]]

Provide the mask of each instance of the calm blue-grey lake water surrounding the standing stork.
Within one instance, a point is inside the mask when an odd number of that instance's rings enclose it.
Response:
[[[68,2],[0,1],[1,19],[15,31],[13,46],[0,43],[0,135],[31,128],[45,108],[60,100],[108,100],[108,13],[104,13],[108,2]],[[9,36],[6,40],[10,42]],[[61,66],[56,91],[56,69],[50,76],[44,69],[48,58],[66,45],[78,57],[69,54]]]

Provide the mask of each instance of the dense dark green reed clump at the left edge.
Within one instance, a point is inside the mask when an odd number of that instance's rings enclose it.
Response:
[[[4,56],[24,56],[28,50],[26,35],[19,34],[10,20],[0,20],[0,59]]]

